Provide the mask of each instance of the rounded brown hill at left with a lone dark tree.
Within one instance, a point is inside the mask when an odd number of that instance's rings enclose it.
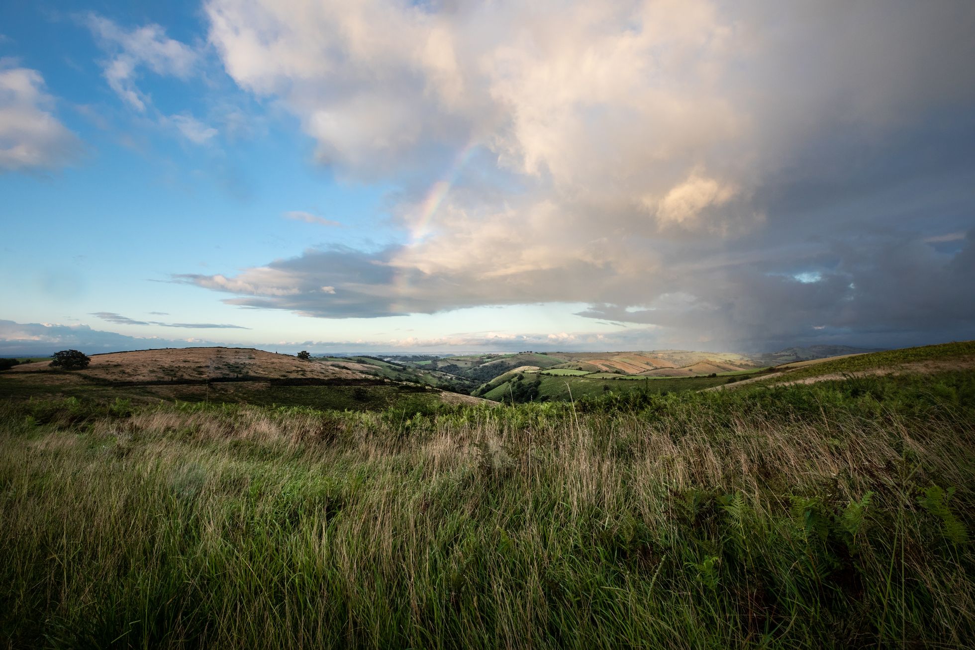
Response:
[[[174,348],[92,355],[82,370],[22,363],[0,372],[0,399],[219,401],[375,410],[479,401],[452,392],[446,373],[367,357],[300,360],[252,348]]]

